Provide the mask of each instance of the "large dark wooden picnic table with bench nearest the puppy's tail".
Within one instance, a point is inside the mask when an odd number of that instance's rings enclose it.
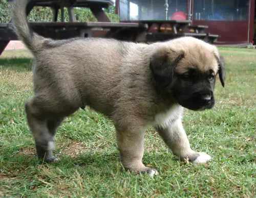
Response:
[[[9,0],[12,2],[13,0]],[[148,26],[140,23],[112,23],[103,11],[113,4],[111,0],[28,0],[27,15],[34,6],[51,7],[53,9],[52,22],[29,22],[30,27],[39,35],[53,39],[67,39],[71,37],[106,37],[120,40],[143,41]],[[70,21],[64,18],[64,8],[69,11]],[[98,22],[77,22],[74,7],[89,8]],[[58,10],[61,9],[61,22],[56,22]],[[0,55],[10,40],[17,40],[13,32],[12,21],[0,23]],[[96,29],[96,30],[95,30]]]

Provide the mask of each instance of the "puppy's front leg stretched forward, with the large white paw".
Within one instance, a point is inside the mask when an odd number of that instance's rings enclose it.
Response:
[[[198,153],[191,150],[180,118],[170,123],[169,126],[159,126],[156,129],[168,147],[181,160],[188,158],[193,163],[206,163],[211,159],[206,153]]]

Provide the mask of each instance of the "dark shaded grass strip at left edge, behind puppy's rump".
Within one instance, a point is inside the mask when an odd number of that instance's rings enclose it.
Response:
[[[32,69],[31,58],[1,58],[0,67],[15,71],[30,71]]]

